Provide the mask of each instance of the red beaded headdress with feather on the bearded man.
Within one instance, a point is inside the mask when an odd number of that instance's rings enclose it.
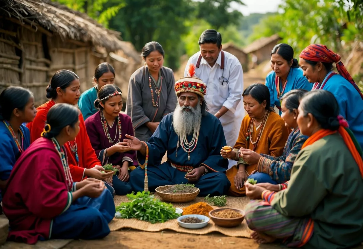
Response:
[[[180,78],[174,85],[176,96],[179,97],[183,92],[191,92],[204,98],[204,95],[207,93],[207,85],[200,78],[194,77],[194,75],[195,65],[189,64],[188,77]]]

